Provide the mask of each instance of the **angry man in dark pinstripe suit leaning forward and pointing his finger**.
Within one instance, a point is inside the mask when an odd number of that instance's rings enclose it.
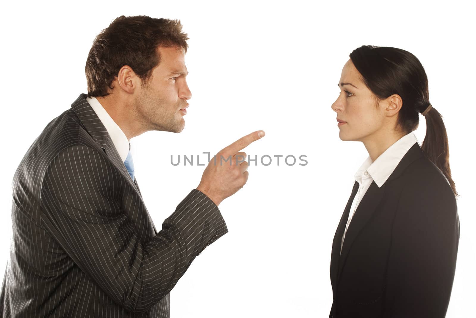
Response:
[[[86,63],[88,95],[53,119],[13,180],[13,239],[1,317],[169,317],[169,292],[193,259],[227,233],[220,202],[247,181],[239,152],[221,150],[157,232],[134,176],[129,139],[179,133],[191,93],[178,21],[114,20]]]

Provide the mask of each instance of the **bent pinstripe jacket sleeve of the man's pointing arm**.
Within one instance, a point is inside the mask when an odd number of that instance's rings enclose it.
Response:
[[[63,150],[41,188],[42,223],[66,253],[124,308],[143,312],[166,296],[201,251],[228,232],[215,203],[193,189],[149,242],[122,206],[121,179],[104,154]]]

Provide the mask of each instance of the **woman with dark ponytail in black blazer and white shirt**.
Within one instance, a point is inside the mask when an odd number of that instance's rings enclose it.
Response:
[[[350,54],[338,86],[332,109],[339,138],[361,141],[369,157],[334,237],[329,317],[445,317],[458,194],[425,70],[410,52],[362,46]],[[421,147],[413,135],[419,113],[426,120]]]

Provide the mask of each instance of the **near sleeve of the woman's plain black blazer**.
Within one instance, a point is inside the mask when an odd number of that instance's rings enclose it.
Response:
[[[392,228],[384,317],[446,315],[456,267],[456,199],[441,175],[406,185]]]

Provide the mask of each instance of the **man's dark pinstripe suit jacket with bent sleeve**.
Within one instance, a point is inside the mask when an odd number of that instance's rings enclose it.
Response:
[[[46,126],[15,172],[1,317],[169,317],[170,290],[228,232],[193,189],[157,233],[85,97]]]

